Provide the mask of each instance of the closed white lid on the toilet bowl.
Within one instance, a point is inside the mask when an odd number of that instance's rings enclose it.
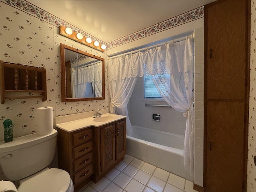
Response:
[[[18,188],[18,192],[68,192],[70,189],[70,175],[68,172],[50,168],[24,182]]]

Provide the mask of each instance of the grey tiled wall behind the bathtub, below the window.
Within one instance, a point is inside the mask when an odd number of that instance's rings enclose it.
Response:
[[[128,103],[128,114],[131,124],[160,131],[185,135],[186,118],[182,112],[171,107],[145,106],[148,104],[168,105],[165,101],[144,101],[143,78],[138,77],[132,96]],[[152,114],[160,114],[160,121],[153,121]]]

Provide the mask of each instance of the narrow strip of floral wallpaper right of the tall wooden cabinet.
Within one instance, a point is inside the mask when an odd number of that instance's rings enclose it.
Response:
[[[247,192],[256,191],[256,2],[251,1],[250,101],[247,162]]]

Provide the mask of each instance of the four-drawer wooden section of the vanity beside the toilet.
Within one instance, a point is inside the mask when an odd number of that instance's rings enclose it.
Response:
[[[66,170],[78,191],[93,174],[93,128],[68,133],[58,130],[58,168]]]

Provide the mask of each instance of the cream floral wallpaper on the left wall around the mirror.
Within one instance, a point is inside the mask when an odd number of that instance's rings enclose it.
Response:
[[[25,7],[23,1],[11,2],[15,2],[17,6],[22,5],[23,9]],[[0,2],[0,60],[46,68],[47,101],[42,102],[42,99],[36,98],[6,99],[4,104],[0,104],[0,130],[3,130],[2,122],[10,118],[14,124],[14,138],[37,132],[38,107],[52,106],[54,117],[108,108],[107,78],[105,100],[61,102],[60,43],[105,59],[106,53],[60,36],[55,24],[32,16],[31,10],[29,14],[27,12],[29,11]],[[35,94],[37,93],[28,93],[29,96]],[[0,131],[0,141],[4,140],[3,133]]]

